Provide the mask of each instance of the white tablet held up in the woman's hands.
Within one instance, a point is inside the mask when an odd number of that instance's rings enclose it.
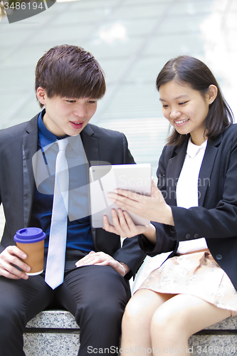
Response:
[[[111,209],[117,206],[107,199],[109,192],[126,189],[139,194],[151,195],[152,167],[150,164],[107,164],[91,166],[90,173],[90,214],[92,226],[102,227],[102,218],[107,215],[112,225]],[[147,225],[149,220],[128,211],[135,225]]]

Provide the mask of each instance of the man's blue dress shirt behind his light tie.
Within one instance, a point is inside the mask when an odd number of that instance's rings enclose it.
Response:
[[[48,179],[45,181],[45,187],[37,186],[33,197],[33,207],[31,213],[30,226],[40,227],[46,233],[45,247],[48,247],[48,236],[51,227],[51,214],[53,207],[53,186],[55,178],[55,167],[52,173],[51,162],[56,162],[57,151],[53,148],[53,143],[64,137],[57,137],[50,132],[43,124],[42,117],[45,113],[43,110],[38,115],[38,150],[43,153],[43,159],[46,163],[48,170]],[[67,136],[65,136],[67,137]],[[80,160],[80,156],[85,155],[80,135],[70,137],[70,145],[67,147],[68,167],[70,174],[70,187],[69,187],[69,209],[68,209],[68,235],[67,235],[67,248],[73,248],[84,252],[94,250],[93,237],[90,229],[90,216],[88,209],[84,209],[88,205],[88,196],[84,197],[80,193],[80,187],[84,185],[87,187],[87,174],[85,164],[70,164],[75,162],[75,157]],[[72,143],[71,143],[72,142]],[[58,145],[57,145],[58,146]],[[48,159],[46,150],[51,147],[49,151],[51,160]],[[48,159],[48,160],[47,160]],[[75,166],[75,167],[73,167]],[[78,178],[80,177],[80,179]],[[78,183],[79,182],[79,183]],[[85,191],[85,189],[84,189]],[[81,201],[79,204],[78,201]],[[87,216],[85,216],[85,214]],[[77,219],[80,218],[80,219]]]

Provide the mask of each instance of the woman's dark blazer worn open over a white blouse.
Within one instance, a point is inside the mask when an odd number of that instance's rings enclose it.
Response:
[[[199,206],[184,209],[177,207],[175,192],[188,141],[189,135],[179,147],[165,146],[157,169],[158,187],[172,208],[175,228],[154,223],[157,244],[144,236],[139,244],[149,256],[173,251],[172,257],[179,241],[205,237],[211,255],[237,289],[237,125],[208,140],[199,173]]]

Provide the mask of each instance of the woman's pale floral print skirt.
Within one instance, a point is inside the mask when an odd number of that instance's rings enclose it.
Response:
[[[168,258],[152,271],[139,289],[191,294],[237,315],[237,291],[209,250]]]

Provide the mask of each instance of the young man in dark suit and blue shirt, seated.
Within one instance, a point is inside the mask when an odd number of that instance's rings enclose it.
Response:
[[[0,203],[6,218],[0,246],[1,356],[24,355],[26,323],[49,305],[63,306],[75,316],[78,355],[88,355],[88,347],[115,355],[119,345],[122,313],[130,298],[128,280],[144,253],[137,237],[125,239],[121,248],[119,236],[93,229],[88,196],[81,190],[88,184],[88,166],[134,163],[125,135],[88,123],[104,94],[105,79],[95,58],[77,46],[56,46],[36,66],[36,96],[45,108],[32,120],[0,131]],[[23,272],[30,268],[14,235],[24,227],[40,227],[47,236],[46,255],[50,250],[57,142],[65,137],[70,174],[65,273],[51,287],[44,272],[30,277]],[[48,174],[43,178],[42,162]]]

